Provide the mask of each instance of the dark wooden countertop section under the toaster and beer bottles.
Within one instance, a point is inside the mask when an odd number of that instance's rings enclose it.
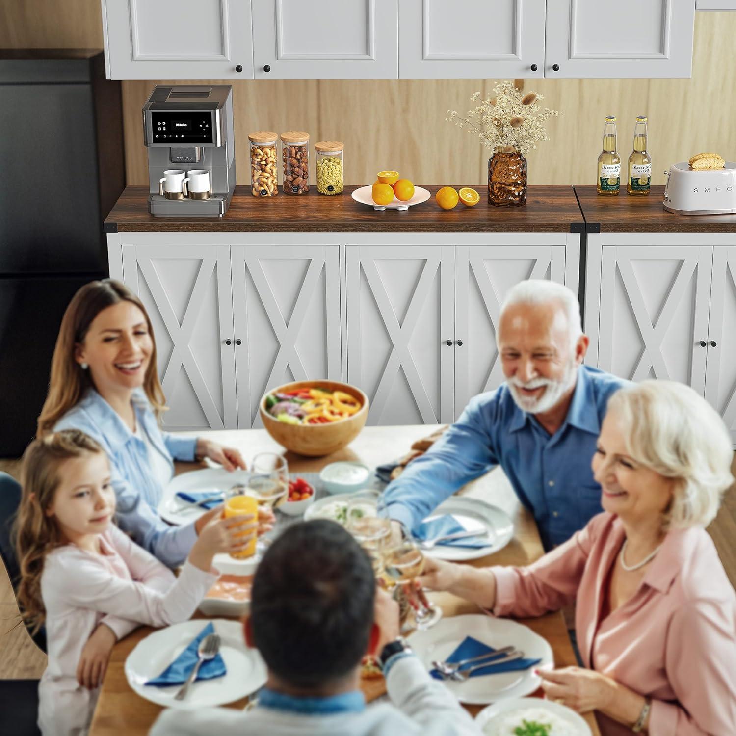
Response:
[[[588,233],[736,233],[736,215],[676,215],[662,207],[665,187],[648,197],[601,197],[595,185],[575,185]]]

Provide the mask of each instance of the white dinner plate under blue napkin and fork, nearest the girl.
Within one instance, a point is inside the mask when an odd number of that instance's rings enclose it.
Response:
[[[220,655],[227,667],[224,676],[194,682],[184,700],[174,700],[181,685],[144,684],[158,677],[208,623],[220,636]],[[216,618],[208,622],[200,618],[158,629],[139,641],[125,660],[125,676],[141,698],[153,703],[167,708],[202,708],[232,703],[258,690],[266,683],[266,664],[258,650],[246,645],[240,621]]]

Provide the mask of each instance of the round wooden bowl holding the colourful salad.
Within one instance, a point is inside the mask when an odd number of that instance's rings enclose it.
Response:
[[[352,417],[330,422],[330,424],[294,425],[279,422],[266,411],[266,396],[277,392],[295,391],[296,389],[325,389],[325,391],[342,391],[361,402],[361,408]],[[353,442],[360,434],[368,419],[368,397],[361,389],[350,383],[340,381],[294,381],[270,389],[261,398],[261,421],[268,433],[287,450],[309,457],[330,455]]]

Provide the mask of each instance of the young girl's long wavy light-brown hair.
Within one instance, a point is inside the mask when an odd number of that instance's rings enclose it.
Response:
[[[23,453],[23,492],[15,519],[15,547],[21,567],[17,595],[23,618],[34,632],[46,620],[41,598],[43,560],[64,543],[56,520],[46,515],[61,481],[61,466],[85,453],[104,452],[91,436],[78,429],[65,429],[35,439]]]

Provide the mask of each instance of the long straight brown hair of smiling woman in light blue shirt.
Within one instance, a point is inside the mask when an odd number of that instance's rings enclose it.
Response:
[[[166,411],[166,398],[163,395],[156,368],[156,341],[151,319],[143,302],[127,286],[119,281],[106,278],[102,281],[91,281],[82,286],[77,294],[74,294],[64,312],[51,362],[49,394],[46,396],[46,402],[38,417],[37,436],[43,437],[52,431],[56,422],[69,409],[76,406],[88,387],[93,385],[89,371],[82,369],[74,359],[74,353],[77,345],[85,342],[93,319],[103,309],[120,302],[135,304],[146,318],[153,349],[143,387],[158,420]]]

